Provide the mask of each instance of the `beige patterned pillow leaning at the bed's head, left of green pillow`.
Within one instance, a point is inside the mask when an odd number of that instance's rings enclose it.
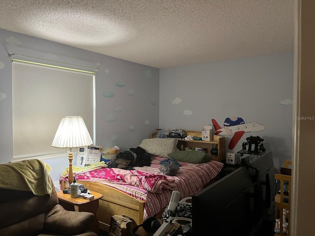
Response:
[[[139,147],[154,155],[167,157],[168,153],[178,151],[176,139],[144,139]]]

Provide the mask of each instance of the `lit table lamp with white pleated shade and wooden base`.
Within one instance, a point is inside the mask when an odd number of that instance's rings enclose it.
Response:
[[[70,148],[69,157],[69,184],[73,182],[72,174],[72,148],[92,145],[93,141],[82,117],[63,117],[52,143],[54,148]]]

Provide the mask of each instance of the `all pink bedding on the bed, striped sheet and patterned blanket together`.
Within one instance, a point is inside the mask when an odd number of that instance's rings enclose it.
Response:
[[[97,171],[79,174],[76,178],[81,181],[97,181],[136,199],[145,201],[145,219],[169,204],[173,190],[181,193],[181,199],[189,197],[200,191],[206,183],[216,177],[223,167],[223,163],[218,161],[200,164],[179,161],[182,167],[180,167],[177,175],[164,176],[159,171],[161,166],[159,162],[164,159],[166,158],[153,156],[151,166],[134,168],[136,169],[133,171],[135,175],[132,175],[130,171],[118,168],[102,168]],[[150,174],[147,175],[148,173]],[[109,177],[110,179],[106,180],[100,178],[100,176]],[[142,188],[143,186],[144,188]]]

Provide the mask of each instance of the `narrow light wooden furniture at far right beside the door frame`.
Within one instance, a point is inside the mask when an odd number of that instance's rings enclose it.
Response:
[[[291,165],[291,161],[284,161],[284,168],[290,170],[288,167]],[[291,176],[286,174],[275,174],[275,178],[277,181],[280,181],[280,193],[278,193],[275,197],[276,202],[276,212],[278,212],[278,216],[280,219],[280,236],[284,235],[283,231],[283,223],[284,223],[284,209],[288,210],[287,213],[287,222],[290,222],[290,193],[291,193]],[[284,191],[288,192],[288,196],[284,194]],[[288,201],[284,201],[284,200]],[[289,225],[287,228],[287,235],[289,235]]]

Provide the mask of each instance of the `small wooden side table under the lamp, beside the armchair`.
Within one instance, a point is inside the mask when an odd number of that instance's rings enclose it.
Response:
[[[87,200],[82,198],[71,198],[70,194],[64,194],[63,191],[57,192],[57,196],[59,199],[59,204],[63,206],[66,210],[72,210],[72,211],[85,211],[85,212],[91,212],[95,215],[94,222],[92,225],[92,230],[98,234],[99,233],[99,227],[98,227],[98,220],[96,216],[96,211],[98,209],[99,203],[98,200],[103,197],[102,194],[90,191],[92,195],[94,195],[93,200]]]

